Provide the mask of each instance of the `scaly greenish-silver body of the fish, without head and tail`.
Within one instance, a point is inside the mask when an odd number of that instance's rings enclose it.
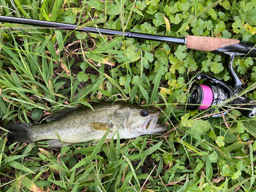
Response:
[[[103,109],[103,108],[106,109]],[[53,139],[58,140],[58,136],[63,142],[86,142],[93,139],[100,139],[105,130],[92,130],[89,126],[90,123],[101,122],[109,124],[111,119],[110,115],[119,106],[94,106],[94,112],[91,108],[84,106],[68,113],[65,116],[61,116],[56,121],[52,121],[46,124],[34,124],[29,129],[29,136],[31,141]],[[110,133],[111,134],[111,133]],[[57,136],[58,135],[58,136]]]

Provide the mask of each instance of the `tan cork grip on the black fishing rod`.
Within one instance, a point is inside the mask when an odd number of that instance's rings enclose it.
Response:
[[[186,47],[200,51],[214,51],[225,46],[239,44],[240,40],[187,35]]]

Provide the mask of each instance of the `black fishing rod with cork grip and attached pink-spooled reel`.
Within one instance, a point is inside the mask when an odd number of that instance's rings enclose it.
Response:
[[[256,116],[256,104],[251,104],[252,100],[246,95],[236,97],[242,92],[243,84],[239,79],[236,71],[233,69],[233,61],[237,56],[256,57],[255,44],[250,42],[243,42],[237,39],[226,39],[216,37],[203,37],[187,35],[185,37],[170,37],[161,35],[151,35],[137,32],[123,32],[112,29],[102,29],[95,27],[83,27],[72,24],[49,22],[45,20],[36,20],[28,18],[18,18],[10,16],[0,16],[0,22],[14,23],[22,25],[41,26],[48,28],[61,28],[66,30],[77,30],[90,33],[100,33],[104,35],[119,35],[128,38],[155,40],[167,42],[170,44],[185,45],[188,49],[195,49],[200,51],[214,52],[218,54],[225,54],[227,56],[226,64],[229,68],[232,82],[231,86],[216,78],[212,78],[205,74],[199,74],[197,80],[206,80],[206,84],[193,83],[190,89],[190,96],[188,98],[188,108],[190,110],[207,110],[207,113],[214,113],[215,109],[210,108],[212,105],[219,105],[224,103],[231,97],[235,97],[232,101],[226,103],[230,106],[242,105],[243,109],[238,109],[241,114],[248,118]],[[209,110],[208,110],[209,109]],[[229,111],[228,108],[225,108]],[[225,112],[226,113],[226,112]],[[223,113],[223,114],[225,114]],[[212,117],[222,117],[222,114],[212,115]]]

